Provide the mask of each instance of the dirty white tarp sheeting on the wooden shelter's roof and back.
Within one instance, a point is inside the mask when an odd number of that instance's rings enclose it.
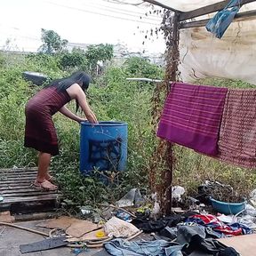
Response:
[[[158,2],[180,11],[191,11],[220,1]],[[256,2],[244,4],[240,12],[250,10],[256,10]],[[254,20],[233,22],[221,39],[213,37],[204,27],[181,29],[179,70],[183,82],[193,82],[204,77],[222,77],[256,84],[256,17]]]

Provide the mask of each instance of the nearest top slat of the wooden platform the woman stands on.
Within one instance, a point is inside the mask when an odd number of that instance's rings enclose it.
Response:
[[[46,200],[56,200],[61,198],[60,194],[50,194],[50,195],[40,195],[40,196],[23,196],[23,197],[7,197],[1,204],[14,204],[14,203],[24,203],[24,202],[36,202],[36,201],[46,201]]]

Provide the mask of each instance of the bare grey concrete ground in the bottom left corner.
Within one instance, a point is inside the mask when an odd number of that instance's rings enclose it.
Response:
[[[39,228],[36,227],[36,224],[42,222],[40,220],[36,221],[26,221],[26,222],[15,222],[14,224],[32,228],[44,233],[48,233],[48,228]],[[34,242],[39,242],[44,240],[44,236],[40,236],[34,233],[30,233],[25,230],[21,230],[18,228],[5,227],[0,226],[0,256],[72,256],[76,255],[72,252],[72,250],[68,247],[60,247],[52,250],[42,251],[42,252],[30,252],[26,254],[21,254],[20,252],[20,244],[30,244]],[[83,255],[92,255],[101,249],[90,249],[87,252],[81,252],[79,256]]]

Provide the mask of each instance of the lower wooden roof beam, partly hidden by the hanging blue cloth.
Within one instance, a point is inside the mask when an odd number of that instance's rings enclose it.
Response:
[[[254,20],[254,19],[256,19],[256,10],[237,13],[236,16],[235,16],[234,21]],[[182,23],[182,24],[180,24],[180,29],[182,29],[182,28],[199,28],[199,27],[204,27],[209,20],[210,19],[205,19],[205,20],[191,21],[191,22],[188,22],[188,23]]]

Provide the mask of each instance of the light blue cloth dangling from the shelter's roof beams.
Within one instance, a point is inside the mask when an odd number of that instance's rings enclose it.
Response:
[[[208,21],[205,28],[217,38],[221,38],[234,20],[236,13],[239,12],[240,7],[240,0],[231,0],[223,10],[217,12]]]

